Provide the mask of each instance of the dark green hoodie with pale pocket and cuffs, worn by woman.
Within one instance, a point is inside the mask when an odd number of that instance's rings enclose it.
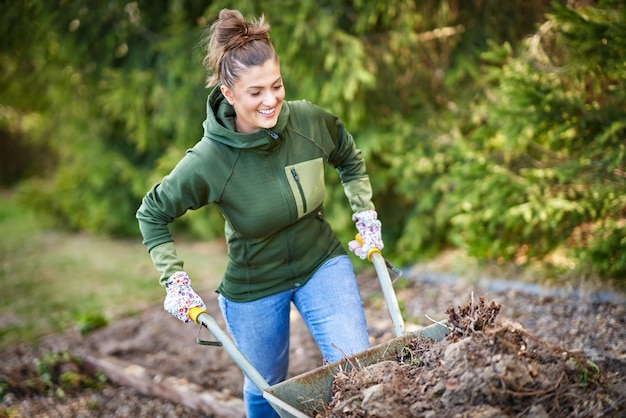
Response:
[[[345,254],[324,218],[324,165],[339,173],[354,212],[373,210],[365,163],[339,119],[307,101],[283,102],[273,129],[235,131],[219,87],[209,94],[204,136],[137,211],[160,282],[183,269],[168,224],[215,204],[225,219],[228,265],[217,291],[245,302],[306,283]]]

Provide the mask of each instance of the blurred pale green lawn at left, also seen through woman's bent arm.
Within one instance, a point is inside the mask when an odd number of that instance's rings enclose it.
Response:
[[[221,242],[178,242],[194,288],[211,292],[226,265]],[[136,239],[56,230],[0,194],[0,348],[71,327],[81,331],[161,304],[158,274]]]

